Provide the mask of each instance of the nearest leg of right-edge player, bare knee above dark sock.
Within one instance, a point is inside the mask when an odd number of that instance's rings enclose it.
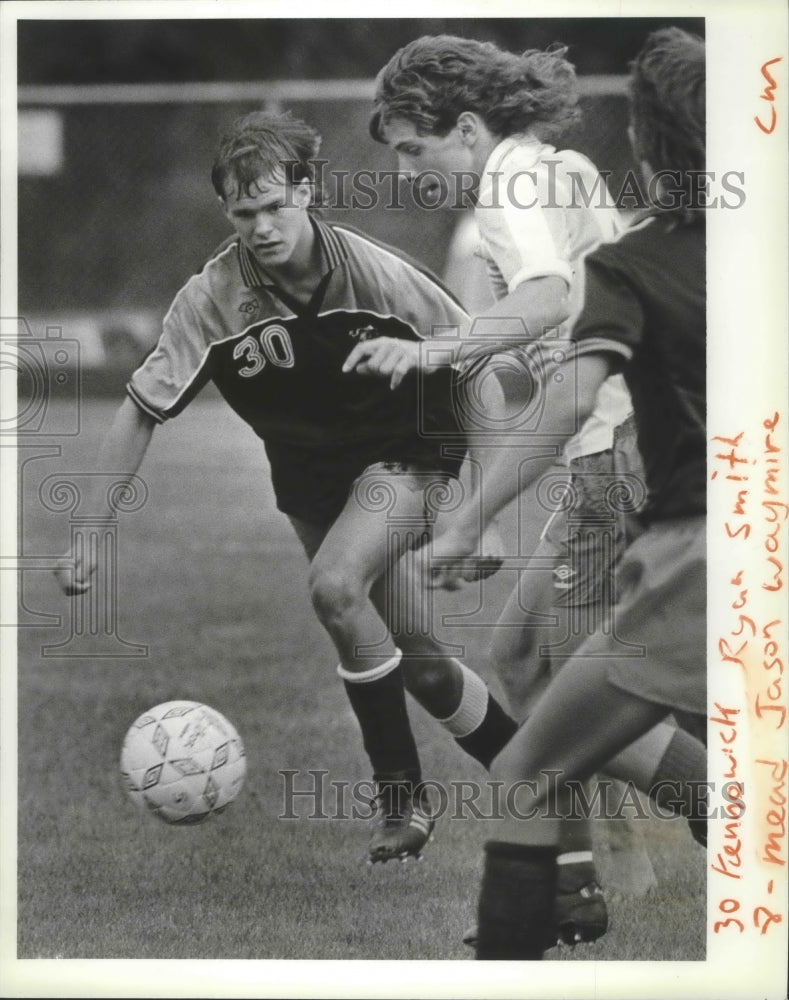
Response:
[[[555,942],[557,814],[568,808],[569,782],[590,777],[667,712],[612,686],[606,672],[599,660],[565,666],[493,764],[510,808],[503,821],[490,824],[486,844],[480,959],[539,959]],[[546,809],[549,799],[553,807]]]

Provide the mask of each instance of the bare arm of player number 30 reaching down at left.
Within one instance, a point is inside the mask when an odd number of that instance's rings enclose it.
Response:
[[[95,471],[131,479],[145,457],[155,427],[152,417],[135,406],[131,399],[125,399],[101,444]],[[95,492],[85,498],[85,508],[97,518],[113,514],[106,492],[98,484]],[[95,572],[95,553],[69,552],[60,560],[55,577],[64,593],[84,594],[90,589]]]

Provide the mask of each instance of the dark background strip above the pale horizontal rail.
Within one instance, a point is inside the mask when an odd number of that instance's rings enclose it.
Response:
[[[570,46],[579,73],[624,73],[645,35],[701,18],[478,18],[21,21],[20,83],[368,77],[422,34],[505,48]]]

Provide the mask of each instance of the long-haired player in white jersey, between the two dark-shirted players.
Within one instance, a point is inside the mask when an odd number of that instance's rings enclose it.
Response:
[[[557,341],[567,335],[583,301],[585,255],[621,231],[593,164],[546,141],[575,119],[573,68],[562,48],[519,56],[491,43],[424,37],[381,70],[375,100],[372,135],[397,153],[401,170],[421,185],[423,196],[441,189],[450,198],[474,202],[497,302],[459,330],[454,356],[445,341],[384,338],[357,345],[346,367],[389,377],[396,386],[415,367],[462,364],[476,352],[482,363],[472,361],[469,370],[477,367],[482,377],[493,368],[506,393],[506,408],[491,415],[490,425],[517,432],[532,384],[530,340],[549,331],[544,349],[561,347]],[[593,191],[592,199],[583,197]],[[441,350],[430,350],[433,346]],[[497,346],[499,352],[509,350],[496,354]],[[614,591],[616,562],[640,530],[625,510],[606,499],[615,479],[640,486],[643,475],[632,404],[620,375],[604,380],[593,411],[577,430],[564,458],[577,497],[572,514],[582,530],[570,534],[566,515],[552,519],[537,552],[541,559],[555,559],[552,585],[545,586],[544,572],[524,574],[500,619],[502,627],[494,629],[492,661],[521,712],[549,675],[540,647],[553,647],[549,669],[555,670],[584,638],[582,630],[568,627],[571,614],[578,617],[583,610],[588,618],[602,620]],[[496,440],[491,435],[488,454],[496,453]],[[519,442],[527,447],[522,454]],[[533,462],[534,441],[523,432],[505,434],[499,454],[497,474],[510,475],[513,497]],[[484,481],[481,485],[487,490]],[[478,499],[470,505],[472,515]],[[601,521],[603,527],[596,527]],[[559,626],[535,628],[535,613],[538,619],[557,614]],[[529,627],[523,627],[527,622]],[[609,770],[648,790],[667,778],[703,780],[706,755],[687,733],[661,724],[610,762]],[[604,933],[607,916],[588,825],[567,822],[563,837],[559,937],[571,943],[594,940]]]

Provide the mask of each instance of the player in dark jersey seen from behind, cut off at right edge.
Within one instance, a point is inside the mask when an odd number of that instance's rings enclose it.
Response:
[[[572,435],[606,378],[623,372],[648,499],[646,530],[618,569],[622,593],[613,611],[616,636],[646,655],[623,658],[614,633],[599,629],[494,762],[492,773],[505,786],[525,779],[518,809],[533,818],[507,818],[486,843],[480,959],[540,959],[551,943],[545,927],[560,830],[550,813],[541,815],[549,775],[558,772],[561,798],[572,780],[592,774],[670,712],[688,713],[699,725],[706,713],[705,226],[694,186],[705,165],[703,41],[678,28],[654,32],[631,67],[630,90],[631,143],[656,204],[587,256],[575,350],[559,365],[545,361],[534,440]],[[529,463],[526,481],[549,463]],[[511,477],[497,464],[485,469],[482,520],[461,512],[436,540],[436,555],[473,552],[480,524],[512,499]],[[451,578],[458,571],[441,572]]]

